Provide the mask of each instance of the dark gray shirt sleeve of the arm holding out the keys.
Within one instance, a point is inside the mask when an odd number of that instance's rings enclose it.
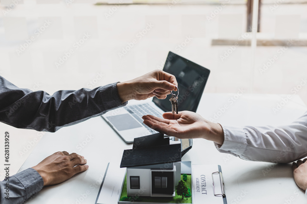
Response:
[[[120,102],[116,84],[49,95],[18,88],[0,76],[0,121],[16,128],[55,132],[125,106],[127,102]]]

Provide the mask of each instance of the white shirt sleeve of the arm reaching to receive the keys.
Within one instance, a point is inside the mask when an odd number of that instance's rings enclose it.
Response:
[[[289,125],[224,126],[217,150],[250,161],[289,163],[307,156],[307,112]]]

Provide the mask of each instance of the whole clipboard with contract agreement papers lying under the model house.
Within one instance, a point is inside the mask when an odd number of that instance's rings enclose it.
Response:
[[[191,167],[190,167],[191,168]],[[109,163],[95,204],[112,204],[119,200],[126,170]],[[192,203],[227,204],[220,165],[192,165]]]

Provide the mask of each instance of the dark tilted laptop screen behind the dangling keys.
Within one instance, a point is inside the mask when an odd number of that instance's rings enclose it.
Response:
[[[203,94],[210,70],[195,64],[177,54],[169,52],[163,71],[173,74],[178,82],[178,111],[196,112]],[[177,94],[177,91],[173,91]],[[171,95],[165,99],[153,97],[153,102],[165,112],[172,111]]]

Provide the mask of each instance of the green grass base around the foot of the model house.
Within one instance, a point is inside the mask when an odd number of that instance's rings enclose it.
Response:
[[[183,174],[181,174],[181,180],[183,180]],[[192,176],[187,175],[188,180],[185,182],[189,187],[192,194]],[[177,189],[177,187],[176,187]],[[160,203],[192,203],[192,196],[182,199],[181,195],[177,195],[177,190],[175,190],[175,197],[150,197],[150,196],[140,196],[134,202],[160,202]],[[125,176],[124,184],[122,186],[122,193],[120,198],[127,197],[127,175]]]

